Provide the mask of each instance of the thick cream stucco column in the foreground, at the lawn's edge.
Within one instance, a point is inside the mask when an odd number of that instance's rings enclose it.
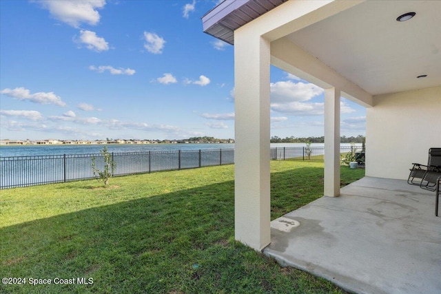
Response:
[[[269,42],[234,33],[236,240],[258,251],[271,240],[269,187]]]

